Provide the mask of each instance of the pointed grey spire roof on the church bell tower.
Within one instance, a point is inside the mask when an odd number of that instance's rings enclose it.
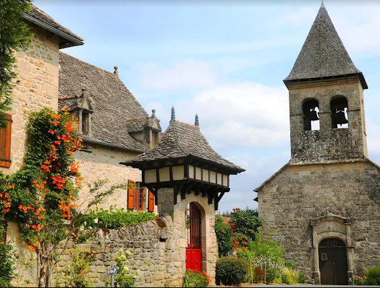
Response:
[[[353,64],[322,3],[292,71],[283,81],[287,85],[292,81],[348,75],[357,75],[363,88],[368,88],[366,79]]]

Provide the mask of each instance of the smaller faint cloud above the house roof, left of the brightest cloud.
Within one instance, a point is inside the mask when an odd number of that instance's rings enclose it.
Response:
[[[175,61],[168,67],[149,62],[141,73],[141,85],[153,90],[191,90],[216,85],[216,72],[209,64],[197,60]]]

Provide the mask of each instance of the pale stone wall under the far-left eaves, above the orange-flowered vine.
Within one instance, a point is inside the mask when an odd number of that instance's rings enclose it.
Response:
[[[12,90],[12,142],[10,168],[0,168],[12,174],[21,168],[26,148],[28,112],[43,107],[58,109],[58,36],[31,25],[34,38],[26,51],[15,54],[19,83]]]

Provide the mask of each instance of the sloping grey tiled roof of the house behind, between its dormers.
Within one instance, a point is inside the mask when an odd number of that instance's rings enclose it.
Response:
[[[63,106],[75,108],[76,97],[86,88],[93,112],[92,137],[84,136],[84,141],[136,152],[147,150],[129,135],[126,122],[149,116],[117,75],[60,52],[59,76],[60,109]]]

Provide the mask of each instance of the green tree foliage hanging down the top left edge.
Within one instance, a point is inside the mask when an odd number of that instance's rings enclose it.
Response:
[[[14,51],[26,49],[33,38],[23,20],[23,13],[30,9],[29,1],[0,0],[0,129],[8,125],[2,112],[10,110],[12,80],[17,76]]]

